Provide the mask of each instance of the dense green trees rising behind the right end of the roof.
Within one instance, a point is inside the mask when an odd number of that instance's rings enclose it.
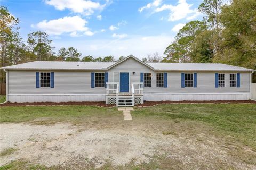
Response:
[[[204,0],[202,21],[190,21],[162,62],[224,63],[256,69],[256,1]]]

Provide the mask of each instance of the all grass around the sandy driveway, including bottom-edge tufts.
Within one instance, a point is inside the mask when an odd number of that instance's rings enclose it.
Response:
[[[0,107],[0,123],[33,123],[54,124],[69,122],[77,126],[101,128],[143,129],[152,133],[177,137],[196,136],[199,133],[215,135],[219,142],[237,146],[231,152],[233,156],[249,164],[256,164],[253,156],[243,151],[248,147],[256,152],[256,104],[170,104],[151,107],[134,107],[133,120],[123,121],[122,112],[117,108],[97,106],[8,106]],[[190,136],[191,137],[191,136]],[[198,139],[203,141],[204,139]],[[163,163],[161,163],[163,161]],[[160,162],[160,163],[159,163]],[[158,165],[159,164],[159,165]],[[166,165],[167,164],[167,165]],[[171,166],[169,160],[159,159],[149,164],[120,169],[150,169],[148,167]],[[31,165],[26,161],[12,162],[0,169],[15,169],[17,167],[30,169],[48,169],[41,165]],[[182,164],[180,164],[182,167]],[[49,168],[51,169],[51,168]],[[55,169],[55,168],[53,168]],[[108,168],[111,169],[111,166]]]

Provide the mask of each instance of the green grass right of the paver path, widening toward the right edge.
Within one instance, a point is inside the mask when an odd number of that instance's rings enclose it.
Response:
[[[229,135],[256,151],[255,104],[171,104],[138,108],[135,117],[162,117],[175,123],[195,121],[215,129],[215,134]]]

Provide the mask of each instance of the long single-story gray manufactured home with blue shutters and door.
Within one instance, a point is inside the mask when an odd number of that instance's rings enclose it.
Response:
[[[255,70],[212,63],[35,61],[3,67],[10,102],[249,100]]]

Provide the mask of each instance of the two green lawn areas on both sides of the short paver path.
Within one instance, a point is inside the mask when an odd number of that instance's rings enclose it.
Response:
[[[97,106],[11,106],[0,107],[1,123],[33,122],[51,124],[121,123],[122,114],[117,108]],[[216,132],[231,135],[256,150],[255,104],[171,104],[135,108],[133,120],[194,121],[213,127]],[[105,122],[105,123],[106,123]]]

